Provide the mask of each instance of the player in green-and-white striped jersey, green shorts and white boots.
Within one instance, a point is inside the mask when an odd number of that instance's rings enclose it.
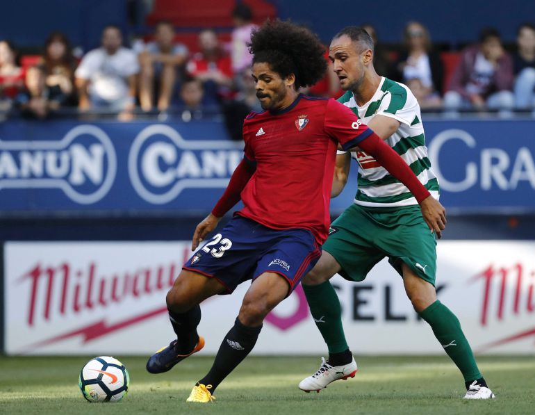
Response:
[[[418,101],[402,83],[375,72],[373,42],[368,33],[356,26],[343,29],[331,42],[329,58],[345,90],[338,101],[386,140],[438,201],[440,189],[427,158]],[[339,153],[333,197],[343,189],[349,173],[350,156]],[[334,380],[354,376],[356,362],[345,341],[340,302],[329,279],[338,272],[350,281],[362,281],[376,263],[388,257],[402,276],[415,311],[429,323],[461,371],[467,389],[465,398],[494,398],[477,368],[459,320],[436,298],[435,236],[441,237],[445,213],[438,226],[430,222],[427,204],[418,206],[409,190],[377,161],[364,152],[351,156],[359,164],[354,204],[332,223],[320,261],[302,280],[311,314],[329,348],[329,360],[323,360],[320,369],[302,380],[299,388],[319,391]]]

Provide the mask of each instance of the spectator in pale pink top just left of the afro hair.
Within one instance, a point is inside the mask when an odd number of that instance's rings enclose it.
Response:
[[[247,43],[251,41],[251,32],[258,26],[252,23],[253,14],[249,6],[238,3],[232,10],[234,29],[231,33],[232,70],[236,76],[238,89],[241,88],[242,72],[252,65],[253,57],[249,53]]]

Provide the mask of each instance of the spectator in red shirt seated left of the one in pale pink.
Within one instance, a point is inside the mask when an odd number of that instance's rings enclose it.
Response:
[[[211,29],[199,33],[199,47],[201,52],[190,59],[186,72],[203,83],[206,99],[212,104],[230,95],[232,62],[220,47],[217,34]]]

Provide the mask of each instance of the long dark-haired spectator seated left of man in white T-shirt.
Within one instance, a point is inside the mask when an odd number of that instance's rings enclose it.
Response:
[[[47,90],[46,93],[51,100],[60,105],[76,103],[74,88],[76,59],[72,54],[71,44],[63,33],[53,32],[48,36],[38,68],[44,76],[44,90]],[[31,76],[40,75],[31,74]],[[26,83],[28,83],[27,76]]]

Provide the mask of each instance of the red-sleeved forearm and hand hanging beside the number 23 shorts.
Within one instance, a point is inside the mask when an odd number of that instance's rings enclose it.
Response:
[[[222,197],[215,204],[212,212],[195,228],[191,241],[192,251],[195,251],[204,237],[215,229],[224,214],[230,211],[236,203],[240,202],[240,194],[255,170],[256,165],[248,161],[247,158],[244,158],[238,164],[238,167],[232,173],[229,186],[227,186]]]

